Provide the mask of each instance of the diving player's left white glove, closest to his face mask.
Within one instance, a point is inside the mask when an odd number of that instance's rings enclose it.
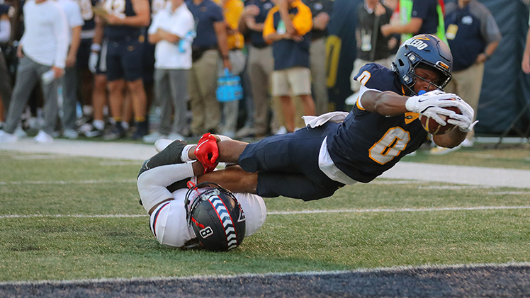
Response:
[[[405,102],[405,108],[412,113],[419,113],[425,117],[432,118],[439,125],[446,125],[447,123],[439,115],[446,115],[453,118],[456,113],[452,110],[444,109],[444,107],[459,106],[458,101],[451,101],[451,99],[457,97],[453,93],[433,90],[419,96],[411,96]]]

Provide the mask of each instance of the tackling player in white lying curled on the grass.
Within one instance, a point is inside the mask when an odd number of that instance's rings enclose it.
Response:
[[[155,147],[159,154],[145,161],[137,187],[159,243],[230,251],[264,224],[265,202],[258,195],[232,194],[210,183],[186,188],[188,180],[196,181],[196,174],[204,172],[200,162],[186,162],[191,161],[188,151],[193,146],[180,140],[160,139]]]

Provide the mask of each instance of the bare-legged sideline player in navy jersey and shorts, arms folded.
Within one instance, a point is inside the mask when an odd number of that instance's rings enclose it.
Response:
[[[133,139],[141,139],[148,134],[146,120],[147,98],[143,85],[142,67],[142,27],[150,23],[150,6],[147,0],[106,0],[103,8],[105,16],[105,38],[108,42],[106,55],[106,76],[108,80],[111,114],[114,119],[113,129],[105,139],[125,137],[126,132],[121,123],[123,93],[133,102],[136,130]]]

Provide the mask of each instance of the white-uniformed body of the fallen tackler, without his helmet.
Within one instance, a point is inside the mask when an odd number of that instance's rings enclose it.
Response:
[[[220,136],[230,139],[225,136]],[[203,173],[198,161],[189,159],[189,149],[181,140],[159,139],[154,146],[159,154],[145,161],[138,175],[140,201],[150,214],[150,227],[157,241],[171,248],[200,248],[193,227],[186,222],[186,183],[196,183]],[[239,166],[235,166],[239,167]],[[254,234],[264,224],[267,210],[259,195],[234,193],[245,218],[245,237]]]

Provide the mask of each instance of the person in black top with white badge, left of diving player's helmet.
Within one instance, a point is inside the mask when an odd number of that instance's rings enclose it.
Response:
[[[390,23],[392,9],[384,6],[379,0],[364,0],[357,13],[357,58],[354,70],[351,71],[351,91],[359,91],[361,84],[354,79],[359,69],[367,63],[375,62],[390,69],[392,60],[388,45],[390,36],[381,33],[381,26]]]

